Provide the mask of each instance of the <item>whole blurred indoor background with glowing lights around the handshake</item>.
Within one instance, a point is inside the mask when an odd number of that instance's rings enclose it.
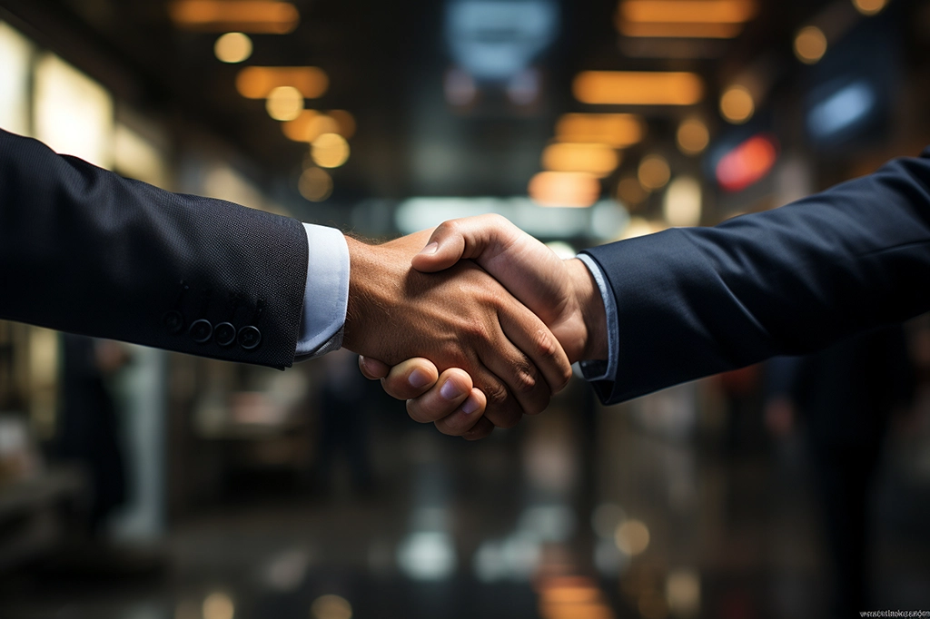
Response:
[[[918,154],[928,59],[927,0],[0,0],[0,126],[369,238],[500,213],[567,257]],[[927,522],[924,318],[610,408],[576,380],[479,443],[344,351],[0,323],[4,618],[930,609]]]

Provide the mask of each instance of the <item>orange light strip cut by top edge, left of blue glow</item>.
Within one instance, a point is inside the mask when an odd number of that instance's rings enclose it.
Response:
[[[179,27],[212,32],[286,34],[300,20],[294,5],[276,0],[175,0],[168,15]]]

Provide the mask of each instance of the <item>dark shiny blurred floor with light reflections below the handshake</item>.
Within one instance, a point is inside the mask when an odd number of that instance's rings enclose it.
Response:
[[[609,409],[576,387],[479,443],[375,417],[373,490],[341,465],[327,484],[237,479],[155,548],[162,575],[17,573],[0,585],[0,616],[829,616],[803,432],[774,441],[744,427],[727,443],[706,386]],[[930,609],[928,431],[916,415],[883,451],[876,608]]]

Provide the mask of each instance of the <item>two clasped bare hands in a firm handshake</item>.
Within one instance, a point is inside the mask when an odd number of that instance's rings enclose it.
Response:
[[[504,217],[446,221],[381,245],[348,238],[343,347],[407,412],[481,439],[542,412],[571,363],[607,359],[604,299]],[[412,267],[412,268],[411,268]]]

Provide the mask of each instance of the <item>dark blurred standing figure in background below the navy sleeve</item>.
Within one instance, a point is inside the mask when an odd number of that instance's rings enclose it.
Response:
[[[832,572],[831,612],[873,608],[870,491],[889,420],[910,407],[914,368],[900,325],[847,338],[773,364],[766,425],[785,435],[803,423]]]

